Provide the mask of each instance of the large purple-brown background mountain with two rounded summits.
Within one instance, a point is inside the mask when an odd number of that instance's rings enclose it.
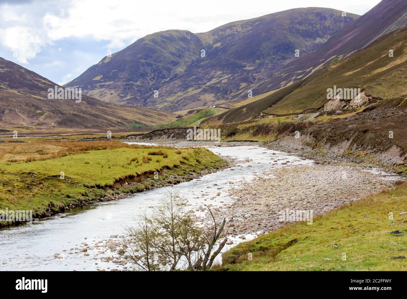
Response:
[[[249,90],[260,94],[295,50],[300,56],[315,51],[357,18],[311,7],[232,22],[206,33],[162,31],[103,58],[66,87],[81,87],[107,102],[167,111],[220,105],[247,97]]]

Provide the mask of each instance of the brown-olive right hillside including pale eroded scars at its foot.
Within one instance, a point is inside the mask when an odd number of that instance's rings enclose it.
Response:
[[[326,65],[312,76],[255,102],[230,109],[201,124],[226,124],[256,118],[302,114],[310,120],[324,114],[347,116],[372,105],[407,96],[407,26],[387,33],[347,59]],[[389,56],[389,50],[393,56]],[[330,99],[328,89],[360,89],[361,100]],[[297,118],[299,120],[300,118]]]

